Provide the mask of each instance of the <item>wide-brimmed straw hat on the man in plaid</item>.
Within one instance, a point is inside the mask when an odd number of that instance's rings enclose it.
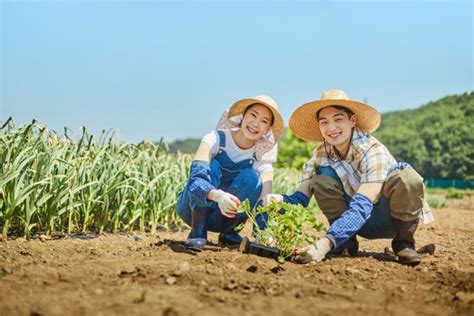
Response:
[[[363,132],[372,133],[380,125],[380,113],[368,104],[353,101],[342,90],[327,90],[321,99],[308,102],[291,114],[290,130],[306,141],[323,141],[316,113],[328,106],[340,105],[351,110],[357,117],[356,126]]]

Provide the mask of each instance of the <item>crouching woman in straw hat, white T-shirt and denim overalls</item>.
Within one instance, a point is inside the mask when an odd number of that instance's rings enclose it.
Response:
[[[223,246],[240,244],[234,228],[246,215],[237,214],[237,208],[245,199],[253,207],[272,192],[272,163],[282,129],[277,103],[261,95],[235,102],[216,131],[204,136],[178,196],[177,213],[191,226],[189,249],[201,251],[208,231],[219,232]]]

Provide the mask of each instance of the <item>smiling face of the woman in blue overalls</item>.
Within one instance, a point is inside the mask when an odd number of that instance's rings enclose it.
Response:
[[[266,106],[255,104],[251,106],[242,119],[241,130],[245,138],[257,141],[271,127],[273,114]]]

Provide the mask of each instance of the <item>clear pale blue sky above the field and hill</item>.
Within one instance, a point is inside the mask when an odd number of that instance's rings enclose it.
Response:
[[[326,89],[382,113],[473,90],[472,1],[0,2],[0,122],[171,142],[260,94],[287,123]]]

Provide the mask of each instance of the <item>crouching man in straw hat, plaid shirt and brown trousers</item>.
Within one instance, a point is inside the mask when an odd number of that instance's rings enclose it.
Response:
[[[291,115],[293,133],[322,143],[305,164],[297,192],[268,194],[263,204],[285,201],[307,206],[314,195],[330,223],[326,236],[303,249],[296,261],[321,261],[330,251],[355,255],[356,235],[360,235],[392,238],[400,263],[420,263],[414,233],[427,205],[423,179],[408,164],[397,163],[370,135],[379,125],[376,109],[351,100],[341,90],[325,91],[320,100],[300,106]]]

